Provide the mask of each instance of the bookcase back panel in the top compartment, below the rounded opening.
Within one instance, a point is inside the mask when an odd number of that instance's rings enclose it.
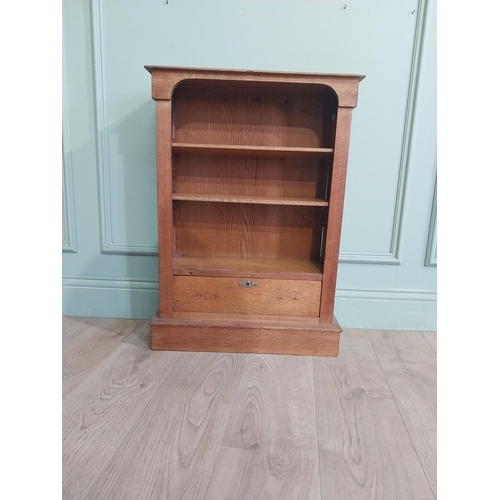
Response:
[[[331,148],[335,101],[333,91],[320,86],[193,86],[184,82],[174,91],[173,140]]]

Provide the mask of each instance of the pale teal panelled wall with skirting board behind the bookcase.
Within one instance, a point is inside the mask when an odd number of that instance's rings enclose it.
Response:
[[[63,313],[157,309],[144,69],[155,64],[365,74],[336,316],[344,327],[434,329],[435,11],[433,0],[64,0]]]

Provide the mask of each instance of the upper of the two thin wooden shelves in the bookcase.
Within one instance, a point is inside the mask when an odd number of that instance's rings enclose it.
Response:
[[[173,153],[233,155],[233,156],[281,156],[322,158],[333,155],[332,148],[282,148],[268,146],[233,146],[216,144],[172,143]]]

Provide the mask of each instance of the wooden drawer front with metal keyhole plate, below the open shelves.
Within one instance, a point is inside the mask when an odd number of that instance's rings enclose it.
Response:
[[[321,281],[174,276],[174,311],[319,316]]]

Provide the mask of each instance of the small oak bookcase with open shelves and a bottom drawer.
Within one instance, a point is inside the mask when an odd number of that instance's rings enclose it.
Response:
[[[151,348],[336,356],[351,114],[364,77],[146,69],[158,171]]]

